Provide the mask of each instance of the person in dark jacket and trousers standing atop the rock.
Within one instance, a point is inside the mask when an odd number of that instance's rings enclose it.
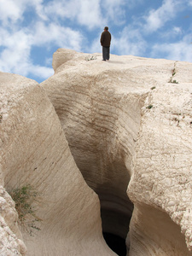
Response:
[[[104,27],[104,32],[102,32],[100,42],[102,44],[102,61],[108,61],[111,44],[111,34],[108,32],[108,26]]]

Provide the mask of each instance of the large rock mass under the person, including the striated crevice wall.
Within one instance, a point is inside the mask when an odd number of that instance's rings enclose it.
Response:
[[[99,196],[103,232],[130,256],[192,255],[192,65],[58,49],[53,67],[41,85]]]

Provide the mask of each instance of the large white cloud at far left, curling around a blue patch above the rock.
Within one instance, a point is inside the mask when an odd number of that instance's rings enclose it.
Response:
[[[44,49],[49,49],[56,45],[58,48],[80,51],[82,40],[83,36],[79,32],[53,23],[45,26],[44,22],[37,22],[34,27],[12,32],[1,28],[0,46],[3,49],[0,54],[0,70],[19,73],[26,77],[33,72],[36,76],[47,79],[53,74],[53,69],[32,63],[32,48],[44,47]],[[50,64],[49,62],[49,66],[51,66]]]

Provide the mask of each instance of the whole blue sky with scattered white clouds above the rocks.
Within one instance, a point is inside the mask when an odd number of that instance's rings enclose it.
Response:
[[[56,49],[192,61],[192,0],[0,0],[0,71],[38,83]]]

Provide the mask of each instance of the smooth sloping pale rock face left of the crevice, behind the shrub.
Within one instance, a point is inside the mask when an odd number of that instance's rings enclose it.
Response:
[[[44,89],[0,73],[0,104],[0,254],[116,255],[102,237],[98,196],[84,182]],[[32,236],[23,225],[20,234],[6,192],[26,184],[39,195],[33,207],[42,220]]]

